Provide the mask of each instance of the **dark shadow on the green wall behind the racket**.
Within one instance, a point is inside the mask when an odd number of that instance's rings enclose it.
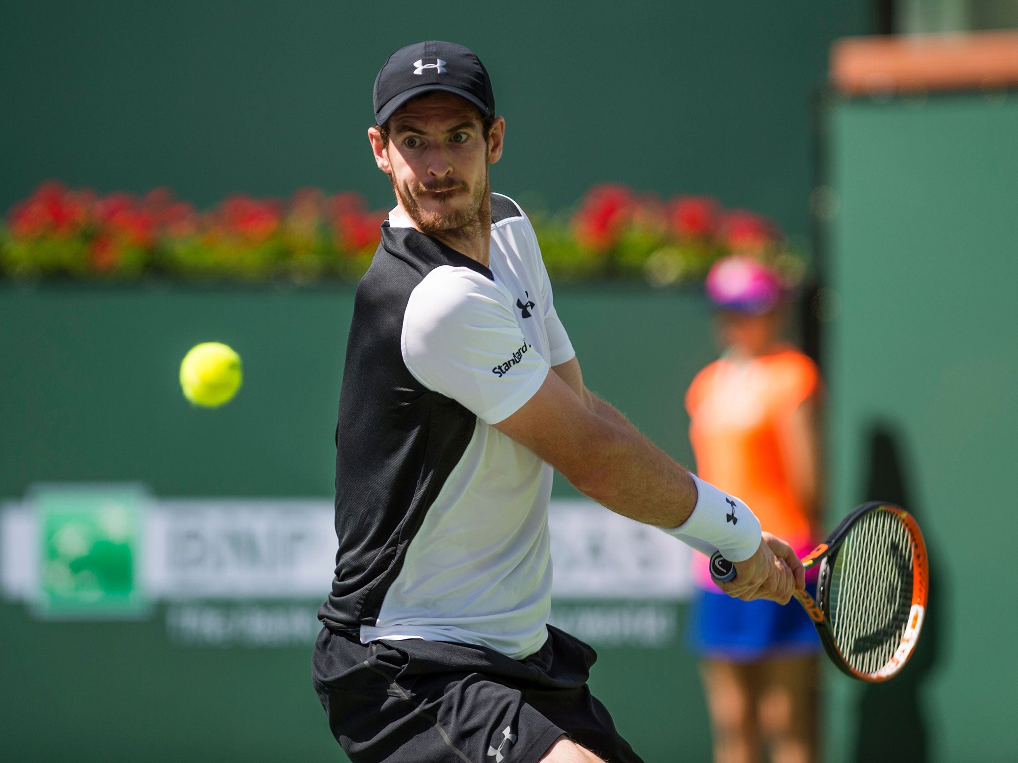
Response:
[[[899,427],[878,422],[867,442],[869,478],[866,500],[887,501],[907,509],[923,527],[924,515],[912,498],[904,433]],[[920,700],[920,688],[941,657],[944,608],[948,591],[937,566],[938,554],[924,535],[929,557],[929,594],[922,635],[911,660],[892,681],[867,684],[859,699],[857,763],[924,763],[929,759],[928,722]]]

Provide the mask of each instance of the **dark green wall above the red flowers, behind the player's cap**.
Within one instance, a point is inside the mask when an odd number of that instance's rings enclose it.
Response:
[[[422,39],[473,47],[508,120],[496,189],[558,210],[590,185],[713,193],[808,230],[807,100],[868,0],[4,3],[0,210],[41,180],[101,191],[391,191],[375,75]]]

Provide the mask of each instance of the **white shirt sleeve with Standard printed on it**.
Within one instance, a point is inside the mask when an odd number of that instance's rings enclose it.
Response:
[[[417,284],[400,349],[414,378],[489,424],[515,413],[549,370],[523,338],[509,294],[468,268],[442,266]]]

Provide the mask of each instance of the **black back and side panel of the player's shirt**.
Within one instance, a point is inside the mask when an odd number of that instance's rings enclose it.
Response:
[[[400,351],[410,293],[443,265],[479,262],[409,228],[383,225],[357,286],[336,428],[336,575],[319,619],[375,625],[429,506],[459,462],[476,417],[425,388]]]

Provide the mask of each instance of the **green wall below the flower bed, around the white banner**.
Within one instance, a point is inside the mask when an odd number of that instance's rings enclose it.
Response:
[[[588,386],[690,463],[682,395],[716,356],[703,297],[572,287],[558,290],[556,305]],[[0,287],[0,498],[54,480],[142,482],[161,498],[328,498],[351,309],[350,289]],[[191,408],[177,382],[183,354],[206,340],[231,344],[245,369],[238,397],[212,411]],[[575,493],[558,482],[555,494]],[[5,754],[339,758],[312,690],[309,641],[182,645],[168,606],[139,622],[75,623],[0,603]],[[673,760],[677,748],[704,760],[705,710],[677,635],[684,606],[664,611],[669,643],[600,648],[591,686],[648,761]]]

